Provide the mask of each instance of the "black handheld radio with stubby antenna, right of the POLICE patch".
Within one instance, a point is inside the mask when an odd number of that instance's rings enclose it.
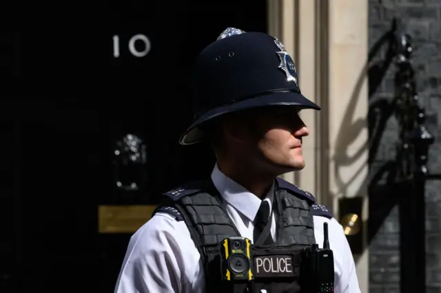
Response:
[[[334,253],[329,247],[328,224],[323,224],[323,248],[313,244],[306,250],[307,292],[334,292]]]

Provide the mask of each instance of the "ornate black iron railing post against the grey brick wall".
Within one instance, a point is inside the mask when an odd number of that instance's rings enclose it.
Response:
[[[396,28],[396,25],[395,25]],[[407,188],[400,198],[401,226],[401,292],[426,292],[426,230],[425,185],[429,175],[427,160],[433,135],[427,130],[426,111],[416,89],[412,66],[411,36],[396,32],[396,109],[400,144],[398,149],[398,180]]]

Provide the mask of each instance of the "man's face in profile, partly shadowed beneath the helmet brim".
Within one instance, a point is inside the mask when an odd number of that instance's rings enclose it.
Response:
[[[305,167],[302,138],[309,130],[298,112],[295,107],[271,107],[247,117],[249,134],[244,142],[256,168],[283,174]]]

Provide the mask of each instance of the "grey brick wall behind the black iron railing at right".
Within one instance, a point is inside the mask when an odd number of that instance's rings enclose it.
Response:
[[[418,94],[427,109],[427,128],[435,135],[429,153],[429,171],[441,173],[441,0],[369,0],[369,47],[400,17],[406,32],[413,36],[413,64]],[[384,50],[373,61],[384,58]],[[390,102],[394,94],[391,65],[382,83],[370,97],[369,105]],[[373,110],[374,111],[374,110]],[[376,110],[378,111],[378,110]],[[370,113],[372,116],[373,113]],[[370,127],[373,128],[372,121]],[[390,116],[381,133],[380,145],[371,153],[370,176],[393,161],[398,140],[398,123]],[[385,175],[383,176],[385,178]],[[385,179],[376,184],[385,184]],[[427,202],[427,292],[441,293],[441,182],[429,181]],[[398,207],[391,209],[370,243],[370,292],[400,292],[400,223]]]

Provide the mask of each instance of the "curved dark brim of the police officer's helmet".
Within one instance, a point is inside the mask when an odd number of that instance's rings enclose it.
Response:
[[[236,111],[244,111],[247,109],[255,109],[259,107],[268,106],[284,106],[284,107],[298,107],[300,109],[315,109],[320,110],[318,105],[311,102],[302,94],[293,91],[277,92],[266,94],[265,96],[258,96],[256,98],[249,98],[234,104],[217,107],[202,113],[192,123],[190,127],[181,135],[179,143],[182,145],[196,144],[203,142],[204,133],[199,127],[205,122],[212,120],[218,116]]]

